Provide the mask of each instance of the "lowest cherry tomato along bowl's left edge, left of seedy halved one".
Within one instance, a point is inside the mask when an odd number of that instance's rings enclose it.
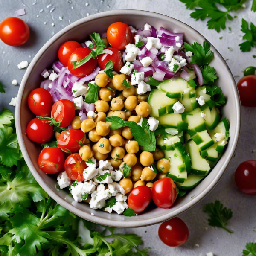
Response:
[[[57,147],[44,148],[38,157],[39,168],[47,174],[55,174],[64,169],[64,152]]]

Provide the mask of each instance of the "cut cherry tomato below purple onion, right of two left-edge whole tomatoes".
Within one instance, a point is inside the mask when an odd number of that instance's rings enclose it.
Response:
[[[52,117],[61,122],[61,127],[70,125],[76,115],[74,102],[68,99],[61,99],[52,105]]]

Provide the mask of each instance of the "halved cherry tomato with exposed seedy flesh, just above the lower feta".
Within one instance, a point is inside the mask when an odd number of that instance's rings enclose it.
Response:
[[[70,180],[83,181],[83,172],[86,168],[86,163],[78,153],[71,154],[65,161],[65,171]]]

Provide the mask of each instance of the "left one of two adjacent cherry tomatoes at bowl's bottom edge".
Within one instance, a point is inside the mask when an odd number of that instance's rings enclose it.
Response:
[[[147,186],[137,186],[128,197],[128,206],[136,214],[143,212],[151,201],[151,189]]]

